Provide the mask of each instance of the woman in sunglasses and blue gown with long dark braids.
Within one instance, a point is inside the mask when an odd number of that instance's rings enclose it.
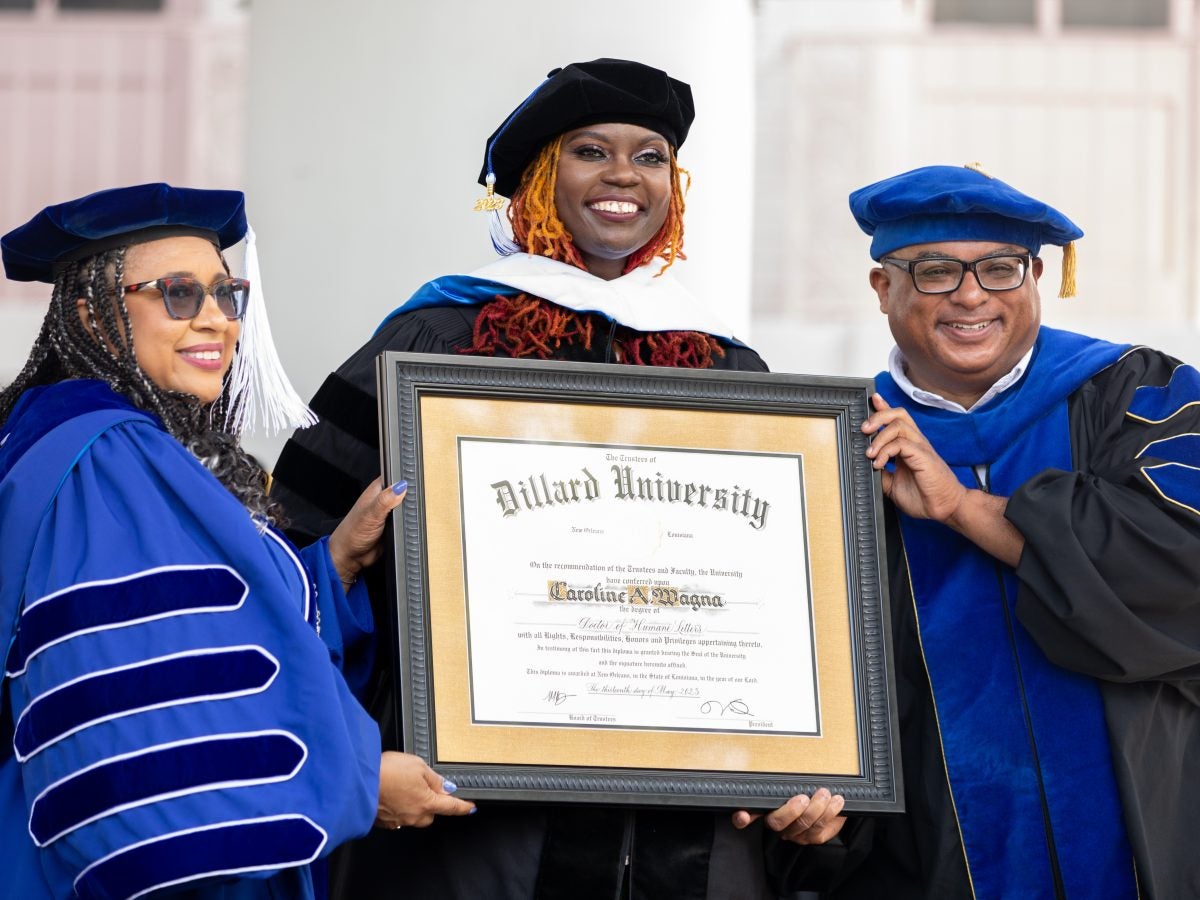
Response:
[[[403,485],[301,551],[239,444],[311,416],[221,253],[246,232],[239,192],[140,185],[0,239],[54,284],[0,391],[0,896],[324,895],[372,823],[473,810],[350,688]]]

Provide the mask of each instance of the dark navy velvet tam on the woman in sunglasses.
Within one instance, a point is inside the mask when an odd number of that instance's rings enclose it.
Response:
[[[66,263],[113,247],[198,235],[224,250],[245,234],[241,191],[133,185],[47,206],[0,238],[0,252],[13,281],[53,283]]]

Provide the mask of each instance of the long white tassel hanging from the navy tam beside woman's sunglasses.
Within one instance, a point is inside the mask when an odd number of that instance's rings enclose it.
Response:
[[[254,431],[262,421],[268,434],[307,428],[317,422],[308,404],[288,380],[271,340],[271,325],[263,301],[263,276],[258,269],[254,229],[246,226],[246,278],[250,300],[241,320],[238,356],[229,376],[229,420],[235,434]]]

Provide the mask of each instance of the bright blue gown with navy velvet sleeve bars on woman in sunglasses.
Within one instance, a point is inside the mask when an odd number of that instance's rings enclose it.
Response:
[[[0,442],[0,898],[323,895],[377,810],[365,592],[101,382]]]

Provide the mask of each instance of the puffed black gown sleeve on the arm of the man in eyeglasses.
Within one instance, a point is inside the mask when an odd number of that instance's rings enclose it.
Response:
[[[1189,479],[1200,494],[1200,472],[1177,469],[1174,498],[1153,480],[1181,456],[1156,442],[1200,434],[1200,396],[1178,378],[1156,413],[1174,410],[1165,420],[1129,414],[1139,389],[1165,388],[1177,368],[1141,348],[1076,391],[1075,470],[1027,481],[1007,517],[1026,541],[1018,614],[1051,660],[1106,682],[1168,682],[1200,701],[1200,496],[1188,496]]]

